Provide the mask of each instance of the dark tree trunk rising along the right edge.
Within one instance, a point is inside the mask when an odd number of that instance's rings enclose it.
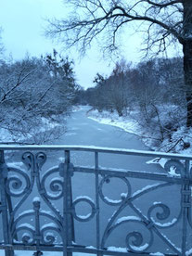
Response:
[[[186,127],[192,126],[192,1],[184,0],[183,52],[186,85]]]

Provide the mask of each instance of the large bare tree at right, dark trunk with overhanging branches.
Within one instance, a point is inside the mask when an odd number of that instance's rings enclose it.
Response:
[[[104,49],[117,48],[119,32],[137,23],[146,33],[146,50],[161,53],[173,45],[183,46],[186,84],[186,126],[192,126],[192,1],[191,0],[71,0],[75,10],[69,19],[49,20],[47,34],[58,34],[66,45],[84,52],[93,41]],[[104,44],[106,43],[106,44]]]

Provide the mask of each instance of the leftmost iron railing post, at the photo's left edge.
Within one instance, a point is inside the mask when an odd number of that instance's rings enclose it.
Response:
[[[0,209],[2,211],[2,222],[3,222],[3,233],[5,244],[10,244],[10,233],[8,228],[8,209],[7,209],[7,195],[6,195],[6,178],[7,178],[7,167],[4,157],[4,151],[0,150],[0,195],[1,195],[1,205]],[[5,249],[6,256],[13,256],[13,250]]]

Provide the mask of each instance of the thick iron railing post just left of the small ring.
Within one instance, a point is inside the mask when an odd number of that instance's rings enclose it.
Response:
[[[64,163],[64,232],[65,232],[65,250],[64,256],[72,256],[72,252],[68,252],[67,248],[74,242],[74,220],[72,216],[72,187],[71,176],[73,166],[70,163],[70,150],[65,151]]]

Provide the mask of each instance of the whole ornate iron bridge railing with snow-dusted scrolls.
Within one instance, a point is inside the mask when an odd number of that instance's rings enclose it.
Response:
[[[53,167],[56,152],[63,159]],[[80,154],[82,163],[93,155],[94,166],[74,166],[70,154],[74,161]],[[20,166],[10,163],[19,155]],[[109,162],[124,155],[127,168],[101,167],[107,155]],[[164,169],[154,164],[145,172],[129,170],[132,157],[137,167],[141,159],[166,161]],[[104,147],[0,146],[0,249],[6,256],[14,250],[192,255],[190,160]]]

